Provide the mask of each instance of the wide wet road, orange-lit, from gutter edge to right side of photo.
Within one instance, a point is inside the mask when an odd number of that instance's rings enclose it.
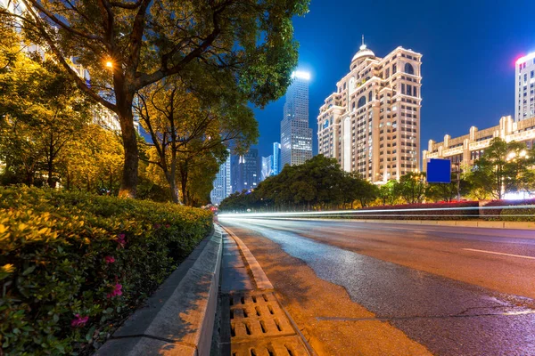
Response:
[[[535,355],[535,232],[221,219],[319,353]]]

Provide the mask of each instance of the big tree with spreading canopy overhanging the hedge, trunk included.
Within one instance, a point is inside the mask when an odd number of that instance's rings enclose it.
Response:
[[[225,71],[254,104],[282,96],[297,63],[292,18],[307,0],[21,0],[31,40],[46,44],[71,79],[119,116],[125,160],[120,196],[135,197],[138,147],[132,103],[165,77]],[[78,77],[70,57],[89,69]]]

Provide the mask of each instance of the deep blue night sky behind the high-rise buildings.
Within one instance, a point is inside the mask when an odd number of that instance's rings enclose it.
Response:
[[[317,154],[317,114],[350,71],[361,34],[378,57],[401,45],[422,53],[421,146],[514,117],[514,61],[535,51],[535,1],[312,0],[294,20],[298,69],[308,70],[309,123]],[[255,109],[259,154],[280,140],[284,97]],[[421,152],[420,152],[421,154]]]

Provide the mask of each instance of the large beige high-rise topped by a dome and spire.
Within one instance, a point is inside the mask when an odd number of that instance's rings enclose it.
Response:
[[[384,58],[363,43],[350,72],[317,117],[318,151],[370,182],[419,169],[422,54],[398,47]]]

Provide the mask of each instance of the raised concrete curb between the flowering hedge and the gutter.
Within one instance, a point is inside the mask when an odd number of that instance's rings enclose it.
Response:
[[[210,355],[218,302],[221,230],[196,247],[168,279],[95,352],[95,356]]]

